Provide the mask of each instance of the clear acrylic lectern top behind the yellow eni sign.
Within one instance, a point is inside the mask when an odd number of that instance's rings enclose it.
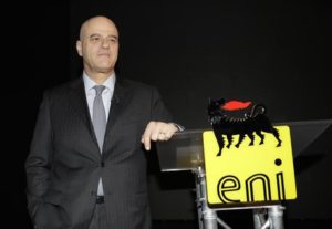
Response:
[[[332,119],[274,123],[291,129],[292,152],[299,156],[329,126]],[[211,129],[190,129],[177,133],[168,142],[157,142],[162,171],[197,170],[204,168],[203,133]]]

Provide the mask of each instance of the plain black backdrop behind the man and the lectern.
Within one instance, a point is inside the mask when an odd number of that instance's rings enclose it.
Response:
[[[17,100],[29,108],[13,114],[22,131],[10,132],[20,137],[14,137],[17,150],[4,158],[15,162],[14,178],[4,179],[11,186],[1,190],[9,197],[8,220],[19,215],[22,222],[17,223],[29,223],[23,160],[38,105],[43,89],[80,73],[75,40],[86,18],[114,19],[121,32],[121,75],[157,86],[175,121],[196,129],[209,127],[208,97],[262,102],[274,123],[331,118],[332,14],[326,2],[71,0],[21,10],[21,22],[10,29],[24,37],[23,64],[11,64],[20,82]],[[295,159],[299,198],[287,205],[288,218],[332,218],[331,136],[330,128]],[[193,175],[160,174],[156,154],[148,157],[154,219],[195,219]],[[4,167],[12,169],[12,164]]]

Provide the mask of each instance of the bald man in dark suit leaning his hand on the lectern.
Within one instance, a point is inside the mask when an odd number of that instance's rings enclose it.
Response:
[[[44,92],[25,162],[33,225],[151,228],[144,148],[149,150],[151,140],[168,140],[178,126],[156,89],[115,75],[118,31],[113,21],[85,21],[76,49],[83,76]],[[102,85],[104,131],[94,123],[96,85]]]

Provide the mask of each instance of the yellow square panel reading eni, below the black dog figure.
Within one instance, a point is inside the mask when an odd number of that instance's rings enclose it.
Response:
[[[249,146],[249,137],[237,148],[224,147],[217,156],[219,146],[212,131],[204,132],[204,157],[207,181],[208,204],[241,204],[274,201],[297,198],[295,176],[291,147],[290,128],[274,126],[282,140],[278,142],[270,133],[264,143]],[[234,135],[234,143],[238,142]],[[227,138],[224,137],[227,143]],[[227,144],[225,144],[227,145]]]

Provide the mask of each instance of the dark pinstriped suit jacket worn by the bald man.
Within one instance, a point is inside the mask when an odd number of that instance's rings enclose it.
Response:
[[[110,228],[149,228],[141,143],[149,121],[172,121],[158,91],[117,77],[101,154],[82,77],[45,91],[25,162],[37,228],[87,229],[100,177]]]

